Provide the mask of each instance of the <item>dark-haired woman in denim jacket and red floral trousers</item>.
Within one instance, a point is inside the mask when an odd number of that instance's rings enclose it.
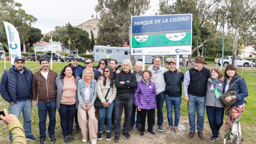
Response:
[[[225,98],[226,102],[237,99],[233,107],[226,109],[228,113],[225,126],[224,143],[242,143],[244,141],[241,131],[240,117],[244,111],[244,99],[248,96],[248,89],[244,78],[236,73],[236,68],[233,65],[228,65],[225,70],[226,82],[224,84],[225,93],[228,91],[239,90],[236,95]],[[238,80],[237,80],[238,79]],[[237,80],[237,81],[236,81]],[[236,83],[234,84],[234,82]],[[231,88],[230,86],[234,84]]]

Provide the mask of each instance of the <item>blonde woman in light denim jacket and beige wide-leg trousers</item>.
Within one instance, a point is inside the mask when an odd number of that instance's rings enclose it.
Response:
[[[83,136],[82,141],[88,140],[90,133],[90,141],[92,144],[97,143],[98,121],[95,117],[94,101],[97,95],[97,81],[94,79],[94,73],[91,68],[85,68],[82,79],[77,84],[77,98],[79,101],[77,116],[78,123]],[[89,120],[86,118],[88,113]],[[89,131],[88,131],[89,128]]]

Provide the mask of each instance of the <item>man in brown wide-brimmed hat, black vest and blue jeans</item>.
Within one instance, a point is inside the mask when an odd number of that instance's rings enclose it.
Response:
[[[204,130],[204,104],[207,90],[206,84],[210,77],[210,70],[204,68],[204,65],[207,63],[204,62],[203,57],[198,56],[193,61],[195,62],[195,67],[185,73],[183,81],[185,101],[188,102],[188,119],[190,126],[188,137],[192,139],[197,129],[198,137],[204,140],[202,133]]]

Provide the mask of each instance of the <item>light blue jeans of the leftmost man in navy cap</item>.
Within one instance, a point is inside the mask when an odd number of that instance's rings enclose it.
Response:
[[[17,116],[19,119],[22,112],[23,115],[23,128],[25,131],[25,136],[31,136],[31,112],[32,112],[32,101],[17,101],[17,104],[9,104],[10,114]],[[12,134],[9,132],[9,139],[12,140]]]

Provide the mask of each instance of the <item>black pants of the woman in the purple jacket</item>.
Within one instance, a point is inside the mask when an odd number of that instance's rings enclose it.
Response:
[[[145,132],[145,124],[146,124],[146,116],[148,116],[148,132],[152,131],[152,117],[153,117],[154,109],[141,109],[140,117],[141,117],[141,132]],[[148,113],[148,115],[147,115]]]

